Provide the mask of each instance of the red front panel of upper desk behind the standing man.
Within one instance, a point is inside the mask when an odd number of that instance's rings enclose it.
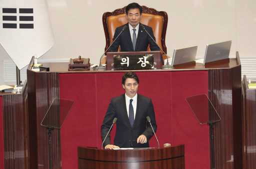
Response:
[[[73,106],[60,131],[62,168],[77,168],[77,146],[100,148],[100,125],[112,97],[124,92],[123,72],[61,73],[60,98]],[[186,168],[209,168],[209,130],[194,117],[185,98],[208,92],[207,71],[137,72],[138,93],[152,98],[162,146],[185,144]],[[114,135],[114,129],[111,136]],[[150,146],[157,146],[155,138]]]

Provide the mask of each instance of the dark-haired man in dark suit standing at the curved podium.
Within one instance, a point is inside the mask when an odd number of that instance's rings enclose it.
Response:
[[[103,143],[105,149],[149,146],[148,140],[153,135],[153,130],[146,116],[150,117],[156,131],[154,108],[150,98],[137,94],[138,83],[139,79],[134,72],[129,71],[122,76],[125,93],[111,99],[101,125],[103,141],[114,117],[117,118],[114,144],[110,143],[108,134]]]

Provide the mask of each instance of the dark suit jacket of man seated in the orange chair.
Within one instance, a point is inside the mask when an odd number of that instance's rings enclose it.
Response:
[[[142,23],[139,23],[139,24],[142,24]],[[159,47],[155,44],[155,42],[148,36],[148,34],[145,32],[145,30],[141,28],[140,25],[138,28],[138,35],[137,35],[135,50],[133,50],[128,23],[123,24],[115,29],[113,39],[115,39],[115,37],[119,34],[119,32],[122,30],[122,27],[124,25],[126,25],[127,27],[125,28],[125,30],[123,30],[120,36],[115,40],[115,42],[109,48],[110,51],[117,51],[119,45],[120,45],[120,51],[146,51],[148,44],[152,51],[160,50]],[[144,27],[148,31],[148,33],[155,39],[152,28],[147,25],[144,25]]]

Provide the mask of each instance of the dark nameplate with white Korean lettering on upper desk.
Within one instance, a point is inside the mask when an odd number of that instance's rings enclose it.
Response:
[[[116,70],[152,69],[154,68],[153,54],[113,55],[113,68]]]

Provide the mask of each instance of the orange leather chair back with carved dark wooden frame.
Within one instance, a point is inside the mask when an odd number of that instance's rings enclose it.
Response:
[[[112,42],[115,28],[127,23],[127,19],[125,18],[125,7],[126,6],[115,9],[112,12],[103,13],[102,22],[106,38],[105,50]],[[168,22],[167,13],[165,11],[157,11],[153,8],[142,6],[142,17],[140,22],[152,27],[155,41],[163,49],[163,51],[167,53],[167,48],[165,45],[165,34]],[[148,50],[150,50],[149,47]]]

